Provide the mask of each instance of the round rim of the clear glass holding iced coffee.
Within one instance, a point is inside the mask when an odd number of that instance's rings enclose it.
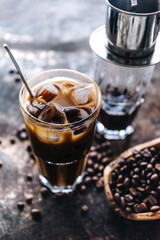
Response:
[[[51,72],[67,72],[67,73],[74,73],[74,74],[77,74],[77,75],[80,75],[81,77],[85,78],[85,79],[88,79],[96,88],[97,92],[98,92],[98,103],[97,103],[97,106],[96,108],[94,109],[94,111],[89,115],[87,116],[86,118],[83,118],[79,121],[76,121],[76,122],[72,122],[72,123],[65,123],[65,124],[57,124],[57,123],[50,123],[50,122],[45,122],[43,120],[40,120],[36,117],[34,117],[32,114],[30,114],[27,109],[24,107],[24,104],[22,103],[22,94],[23,94],[23,91],[26,89],[26,86],[23,84],[21,89],[20,89],[20,92],[19,92],[19,104],[20,104],[20,107],[21,109],[24,111],[24,113],[29,117],[31,118],[34,122],[38,122],[39,124],[43,124],[43,125],[46,125],[46,126],[52,126],[52,127],[57,127],[57,128],[61,128],[61,127],[73,127],[73,126],[77,126],[85,121],[87,121],[88,119],[90,119],[92,116],[94,116],[98,110],[98,108],[100,108],[101,106],[101,102],[102,102],[102,94],[101,94],[101,91],[98,87],[98,85],[96,84],[96,82],[94,82],[93,80],[91,80],[87,75],[81,73],[81,72],[78,72],[76,70],[71,70],[71,69],[50,69],[50,70],[46,70],[46,71],[42,71],[40,73],[37,73],[35,75],[33,75],[32,77],[30,77],[28,80],[27,80],[27,83],[31,82],[33,79],[37,78],[38,76],[41,76],[41,75],[44,75],[44,74],[47,74],[47,73],[51,73]],[[72,79],[72,77],[71,77]]]

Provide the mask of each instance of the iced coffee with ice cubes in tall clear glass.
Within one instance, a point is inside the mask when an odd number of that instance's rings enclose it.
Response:
[[[20,105],[41,182],[52,192],[72,191],[81,181],[92,143],[101,93],[85,75],[43,72],[29,81],[34,98],[20,93]]]

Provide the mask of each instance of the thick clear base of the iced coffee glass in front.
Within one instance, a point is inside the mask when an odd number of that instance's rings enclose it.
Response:
[[[80,175],[77,180],[75,181],[75,183],[73,185],[69,185],[69,186],[52,186],[48,180],[42,176],[41,174],[39,175],[39,180],[40,182],[47,187],[52,193],[71,193],[73,192],[73,190],[75,189],[77,184],[80,184],[82,182],[83,179],[83,174]]]

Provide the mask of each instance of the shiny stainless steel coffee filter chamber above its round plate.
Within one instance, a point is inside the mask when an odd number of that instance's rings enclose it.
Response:
[[[129,58],[151,54],[160,28],[159,0],[106,2],[106,47]]]

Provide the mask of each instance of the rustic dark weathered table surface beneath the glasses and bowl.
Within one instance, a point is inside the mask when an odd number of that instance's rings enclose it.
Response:
[[[6,0],[0,6],[0,239],[160,239],[159,220],[133,222],[118,216],[109,207],[104,189],[98,189],[96,183],[88,184],[84,192],[79,187],[67,196],[48,193],[43,197],[37,166],[26,151],[28,140],[13,138],[23,123],[18,104],[22,83],[11,71],[14,67],[2,44],[7,42],[12,48],[27,78],[51,68],[75,69],[92,77],[93,55],[88,39],[105,23],[105,1]],[[111,143],[114,156],[160,136],[159,69],[155,69],[136,118],[134,134],[125,142]],[[96,145],[103,142],[94,138]],[[106,152],[106,156],[113,156],[112,152]],[[26,181],[28,173],[33,174],[32,181]],[[25,202],[28,193],[33,195],[30,204]],[[25,202],[23,211],[18,210],[18,201]],[[88,206],[85,214],[83,205]],[[41,219],[32,218],[33,208],[41,210]]]

